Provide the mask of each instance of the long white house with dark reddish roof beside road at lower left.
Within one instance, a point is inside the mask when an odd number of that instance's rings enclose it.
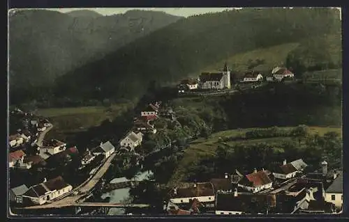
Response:
[[[55,177],[30,187],[29,190],[23,193],[24,204],[43,205],[47,200],[54,200],[71,191],[73,187],[64,182],[61,176]]]

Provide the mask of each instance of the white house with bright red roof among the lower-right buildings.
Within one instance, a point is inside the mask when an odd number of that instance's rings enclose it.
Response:
[[[246,175],[239,181],[238,187],[255,193],[272,188],[272,184],[272,180],[270,180],[265,171],[257,171],[255,169],[253,173]]]

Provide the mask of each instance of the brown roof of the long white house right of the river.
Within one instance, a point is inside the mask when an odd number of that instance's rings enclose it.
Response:
[[[177,189],[177,194],[172,192],[171,198],[191,198],[198,196],[214,196],[214,186],[211,182],[197,183],[196,187]]]

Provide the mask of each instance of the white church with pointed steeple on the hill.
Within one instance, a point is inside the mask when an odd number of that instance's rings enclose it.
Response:
[[[230,89],[230,71],[225,63],[223,72],[202,72],[200,75],[202,89]]]

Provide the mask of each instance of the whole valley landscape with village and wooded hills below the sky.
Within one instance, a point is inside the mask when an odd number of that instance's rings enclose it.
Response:
[[[343,213],[338,8],[9,22],[11,216]]]

